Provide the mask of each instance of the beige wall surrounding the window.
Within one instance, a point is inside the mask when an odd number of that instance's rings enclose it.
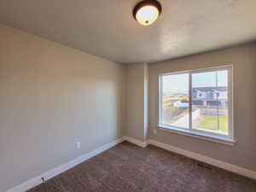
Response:
[[[234,66],[234,147],[154,129],[158,125],[158,75],[189,69]],[[256,44],[149,65],[149,138],[256,171]]]

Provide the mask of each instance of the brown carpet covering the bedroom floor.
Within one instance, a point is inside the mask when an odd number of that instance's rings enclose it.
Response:
[[[161,148],[120,143],[29,192],[255,192],[256,181]]]

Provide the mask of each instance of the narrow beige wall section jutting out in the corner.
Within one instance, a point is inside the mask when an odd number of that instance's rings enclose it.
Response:
[[[148,81],[148,67],[145,63],[126,66],[126,110],[125,131],[126,137],[146,140],[148,129],[147,90],[144,85]]]

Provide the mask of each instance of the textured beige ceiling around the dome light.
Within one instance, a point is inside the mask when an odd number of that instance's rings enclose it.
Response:
[[[0,23],[120,63],[154,62],[256,39],[255,0],[159,0],[140,26],[137,0],[1,0]]]

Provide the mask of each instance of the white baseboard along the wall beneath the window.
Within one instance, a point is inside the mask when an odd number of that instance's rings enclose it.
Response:
[[[201,155],[201,154],[196,154],[194,152],[184,150],[183,148],[173,147],[173,146],[168,145],[166,143],[160,143],[160,142],[157,142],[157,141],[154,141],[154,140],[149,140],[148,143],[152,144],[156,147],[164,148],[168,151],[172,151],[172,152],[177,153],[177,154],[182,154],[182,155],[187,156],[191,159],[200,160],[201,162],[205,162],[209,165],[218,166],[219,168],[222,168],[224,170],[227,170],[227,171],[230,171],[230,172],[235,172],[239,175],[256,179],[256,172],[253,172],[251,170],[242,168],[241,166],[234,166],[232,164],[226,163],[226,162],[221,161],[221,160],[212,159],[210,157],[207,157],[207,156],[204,156],[204,155]]]

